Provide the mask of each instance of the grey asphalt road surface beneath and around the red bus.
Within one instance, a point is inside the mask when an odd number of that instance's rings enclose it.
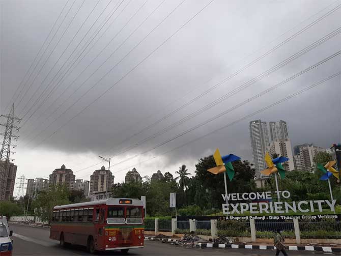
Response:
[[[63,248],[58,241],[49,239],[49,230],[40,227],[24,226],[10,223],[10,230],[13,230],[13,255],[88,255],[90,254],[83,247]],[[200,249],[177,247],[171,244],[162,244],[159,241],[145,241],[145,248],[130,250],[128,255],[275,255],[272,250],[250,250],[250,249]],[[289,255],[303,256],[322,252],[288,251]],[[103,254],[102,254],[103,255]],[[122,255],[120,252],[105,253],[104,255]]]

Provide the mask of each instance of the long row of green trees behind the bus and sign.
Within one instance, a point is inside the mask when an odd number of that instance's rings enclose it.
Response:
[[[326,152],[319,152],[314,163],[326,163],[332,157]],[[236,171],[231,182],[227,181],[229,193],[275,191],[276,185],[272,176],[265,187],[257,188],[254,177],[255,170],[247,160],[238,160],[232,163]],[[140,198],[146,196],[146,210],[149,216],[174,215],[174,209],[169,208],[169,193],[175,192],[177,196],[178,214],[180,215],[206,215],[221,211],[224,193],[223,175],[213,175],[207,169],[215,166],[213,156],[198,160],[193,171],[188,170],[183,164],[176,172],[176,177],[165,173],[163,178],[150,179],[144,177],[142,181],[117,183],[111,189],[112,197]],[[279,189],[291,193],[290,200],[325,200],[330,197],[328,183],[320,181],[322,173],[315,167],[311,172],[297,171],[286,172],[285,179],[279,179]],[[339,204],[341,200],[341,187],[336,179],[331,178],[334,199]],[[28,198],[21,198],[27,202]],[[39,192],[29,204],[29,215],[36,214],[43,219],[51,218],[52,208],[56,205],[85,202],[82,191],[68,191],[64,186],[58,186],[50,191]],[[34,209],[36,212],[34,213]],[[23,213],[20,200],[0,203],[0,215],[14,216]]]

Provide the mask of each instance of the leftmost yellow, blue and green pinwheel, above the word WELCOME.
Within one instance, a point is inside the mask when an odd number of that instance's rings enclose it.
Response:
[[[221,156],[219,149],[216,149],[213,154],[213,158],[217,166],[208,169],[208,172],[215,174],[215,175],[224,173],[225,195],[226,195],[226,203],[227,203],[228,186],[226,184],[226,173],[228,173],[229,179],[230,181],[232,181],[233,177],[235,176],[235,170],[231,162],[239,160],[240,157],[234,154]]]

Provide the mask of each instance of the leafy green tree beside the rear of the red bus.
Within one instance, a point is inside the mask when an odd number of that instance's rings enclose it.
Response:
[[[51,223],[53,207],[70,204],[69,196],[70,191],[65,186],[56,186],[49,191],[39,191],[33,202],[36,214],[42,220]]]

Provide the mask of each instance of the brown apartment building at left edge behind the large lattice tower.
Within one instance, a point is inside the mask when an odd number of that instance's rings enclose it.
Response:
[[[0,201],[10,200],[13,197],[17,166],[11,162],[0,162]]]

